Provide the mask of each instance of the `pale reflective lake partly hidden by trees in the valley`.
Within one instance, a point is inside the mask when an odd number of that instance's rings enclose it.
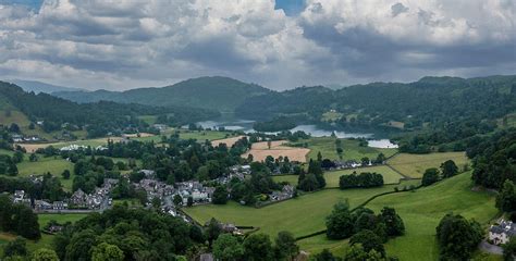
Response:
[[[212,128],[217,129],[219,127],[224,127],[228,130],[242,130],[244,133],[255,133],[253,124],[255,121],[248,120],[228,120],[228,121],[205,121],[198,122],[197,125],[202,128]],[[345,132],[342,129],[333,128],[327,129],[321,128],[317,125],[298,125],[295,128],[290,129],[291,132],[302,130],[306,134],[310,134],[312,137],[328,137],[332,133],[335,134],[339,138],[367,138],[369,141],[369,147],[373,148],[397,148],[397,145],[392,144],[389,139],[383,137],[376,137],[372,133],[358,133],[358,132]],[[269,133],[274,134],[274,133]]]

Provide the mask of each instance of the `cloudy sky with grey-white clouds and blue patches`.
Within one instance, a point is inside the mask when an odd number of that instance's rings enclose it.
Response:
[[[516,74],[516,0],[0,0],[0,79],[283,90]]]

